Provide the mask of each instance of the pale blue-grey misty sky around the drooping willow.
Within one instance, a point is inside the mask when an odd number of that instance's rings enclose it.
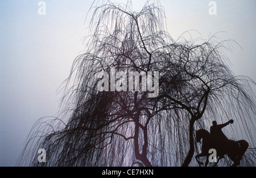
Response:
[[[15,166],[35,121],[56,115],[61,98],[56,91],[84,50],[82,37],[89,35],[90,15],[85,17],[92,0],[44,2],[46,15],[38,14],[36,0],[0,1],[0,166]],[[140,2],[133,2],[134,10],[141,9]],[[225,31],[218,34],[220,40],[233,39],[241,46],[226,53],[234,74],[256,81],[255,0],[214,1],[216,15],[209,15],[207,0],[160,2],[174,39],[191,29],[203,39]]]

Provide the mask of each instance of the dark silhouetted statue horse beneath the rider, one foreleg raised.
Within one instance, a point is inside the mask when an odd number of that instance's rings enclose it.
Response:
[[[249,144],[245,140],[240,141],[232,141],[228,139],[226,141],[224,146],[219,146],[216,141],[212,138],[212,135],[207,130],[200,129],[196,131],[196,142],[200,142],[201,139],[203,139],[202,143],[202,152],[198,155],[196,155],[196,161],[200,165],[203,164],[199,161],[200,157],[207,156],[207,161],[205,162],[205,166],[207,166],[209,160],[209,150],[215,149],[217,152],[217,162],[214,164],[214,166],[217,165],[217,163],[220,161],[220,159],[224,158],[224,155],[228,155],[231,160],[233,160],[232,167],[236,167],[240,164],[240,160],[242,159],[243,154],[245,154],[245,151],[247,150]],[[225,147],[225,149],[224,149]]]

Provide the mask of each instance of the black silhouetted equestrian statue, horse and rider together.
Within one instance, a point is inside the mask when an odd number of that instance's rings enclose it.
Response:
[[[203,139],[202,143],[202,152],[199,155],[196,155],[196,161],[199,164],[203,164],[199,161],[200,157],[207,156],[207,160],[205,162],[205,166],[207,166],[209,160],[209,150],[215,149],[217,152],[217,163],[220,159],[224,158],[224,155],[228,155],[231,160],[233,160],[233,167],[238,166],[240,164],[240,160],[242,159],[243,154],[247,150],[249,144],[245,140],[233,141],[228,139],[225,134],[222,132],[222,128],[229,124],[233,124],[233,120],[226,122],[225,124],[217,125],[216,121],[212,122],[212,126],[210,127],[210,133],[207,130],[200,129],[196,131],[196,142],[200,142]]]

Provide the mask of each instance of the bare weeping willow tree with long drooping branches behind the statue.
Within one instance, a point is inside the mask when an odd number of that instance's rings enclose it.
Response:
[[[92,35],[65,81],[63,110],[36,122],[18,166],[198,166],[195,130],[230,118],[237,127],[229,137],[246,137],[255,147],[255,83],[230,71],[224,51],[232,40],[173,40],[159,2],[146,2],[141,11],[109,1],[92,9]],[[112,67],[125,79],[128,71],[158,71],[158,95],[148,97],[143,86],[98,91],[98,73],[110,74]],[[46,150],[46,163],[38,162],[38,149]],[[248,151],[241,166],[254,160]]]

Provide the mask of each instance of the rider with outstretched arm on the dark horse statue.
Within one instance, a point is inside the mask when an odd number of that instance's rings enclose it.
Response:
[[[217,154],[222,158],[228,151],[226,144],[228,143],[229,139],[226,137],[221,129],[229,125],[230,123],[233,124],[233,122],[234,120],[230,120],[224,124],[217,125],[217,122],[213,121],[213,125],[210,127],[210,135],[212,135],[214,145],[216,146]]]

